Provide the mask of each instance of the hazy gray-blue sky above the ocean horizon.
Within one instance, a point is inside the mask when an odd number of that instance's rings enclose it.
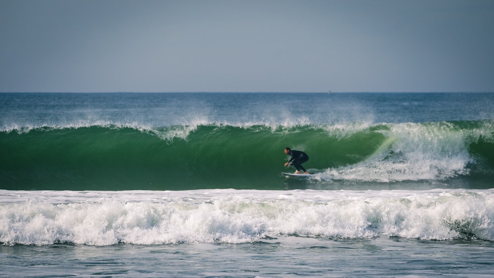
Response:
[[[0,0],[1,92],[494,91],[493,0]]]

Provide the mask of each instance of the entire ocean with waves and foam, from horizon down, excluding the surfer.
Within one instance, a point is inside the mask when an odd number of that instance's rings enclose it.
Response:
[[[311,177],[286,177],[283,150]],[[0,93],[0,277],[491,277],[494,93]]]

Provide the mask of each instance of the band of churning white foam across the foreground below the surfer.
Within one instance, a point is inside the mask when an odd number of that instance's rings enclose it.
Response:
[[[5,191],[0,241],[88,245],[325,238],[494,240],[494,190]]]

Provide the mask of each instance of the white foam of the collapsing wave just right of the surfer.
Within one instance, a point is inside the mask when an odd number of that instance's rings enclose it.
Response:
[[[470,132],[448,123],[403,123],[381,130],[387,139],[364,161],[329,168],[321,179],[362,181],[444,180],[468,174]]]

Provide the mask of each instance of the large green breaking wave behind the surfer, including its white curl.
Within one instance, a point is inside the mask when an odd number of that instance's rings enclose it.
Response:
[[[306,152],[314,182],[441,181],[491,175],[492,121],[0,132],[0,189],[285,189],[285,147]]]

